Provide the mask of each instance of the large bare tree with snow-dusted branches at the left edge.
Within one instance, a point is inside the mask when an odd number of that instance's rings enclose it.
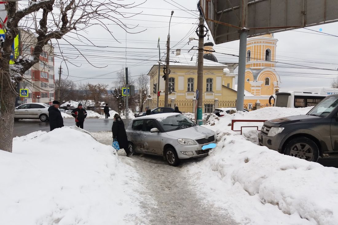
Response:
[[[44,46],[51,40],[62,39],[64,35],[70,33],[84,37],[81,31],[95,25],[99,25],[113,36],[112,31],[106,26],[107,20],[127,31],[130,28],[124,25],[117,15],[123,18],[125,15],[119,12],[120,9],[128,10],[137,5],[123,4],[118,0],[107,0],[102,3],[96,0],[31,0],[28,2],[28,6],[17,5],[14,1],[4,3],[8,20],[3,28],[6,31],[5,41],[0,51],[0,149],[8,152],[12,151],[16,86],[23,79],[23,74],[39,62]],[[28,21],[32,24],[31,27],[26,26]],[[33,43],[29,54],[16,57],[12,52],[12,44],[19,30],[27,28],[34,31],[36,42]],[[68,43],[71,44],[70,41]],[[78,50],[76,46],[73,48]],[[13,63],[10,63],[11,55],[15,56],[12,59]],[[66,60],[62,56],[61,58]]]

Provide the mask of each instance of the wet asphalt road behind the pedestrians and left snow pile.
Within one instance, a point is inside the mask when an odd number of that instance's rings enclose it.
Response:
[[[89,132],[111,131],[113,119],[87,118],[84,120],[83,129]],[[130,122],[131,120],[129,120]],[[127,120],[123,120],[125,128],[127,128]],[[75,126],[74,118],[64,118],[65,126]],[[13,137],[27,135],[34,131],[49,131],[49,122],[41,122],[40,120],[19,120],[14,122]]]

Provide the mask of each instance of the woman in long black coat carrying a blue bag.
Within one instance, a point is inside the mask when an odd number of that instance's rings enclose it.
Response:
[[[124,123],[120,115],[114,115],[114,122],[112,126],[113,139],[116,139],[119,143],[120,149],[123,148],[127,154],[127,157],[131,154],[128,146],[127,133],[124,129]]]

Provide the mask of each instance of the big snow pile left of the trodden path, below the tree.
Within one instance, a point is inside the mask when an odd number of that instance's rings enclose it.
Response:
[[[13,139],[13,153],[0,150],[0,224],[135,224],[143,218],[138,173],[121,164],[111,146],[79,130],[33,132]]]

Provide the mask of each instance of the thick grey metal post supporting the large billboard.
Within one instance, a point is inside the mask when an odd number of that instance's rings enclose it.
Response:
[[[246,37],[247,32],[247,7],[248,0],[241,0],[241,27],[239,30],[239,57],[238,57],[238,81],[237,81],[237,111],[244,110],[244,83],[245,83],[245,64],[246,64]]]

